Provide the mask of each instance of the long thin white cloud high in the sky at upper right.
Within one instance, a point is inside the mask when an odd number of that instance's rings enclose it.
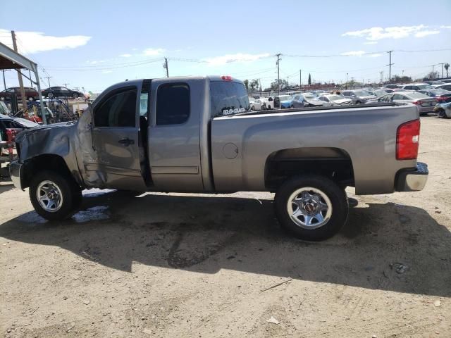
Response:
[[[380,39],[401,39],[414,35],[415,37],[425,37],[430,34],[438,34],[438,30],[427,30],[426,25],[416,26],[395,26],[395,27],[371,27],[365,30],[356,30],[353,32],[345,32],[342,37],[364,37],[370,41]],[[433,32],[433,33],[431,33]]]

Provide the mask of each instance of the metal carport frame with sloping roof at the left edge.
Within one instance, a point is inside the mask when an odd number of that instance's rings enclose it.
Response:
[[[0,70],[1,69],[16,69],[23,77],[26,77],[32,83],[36,84],[37,92],[39,94],[39,103],[41,106],[41,114],[42,114],[42,122],[44,125],[47,124],[47,117],[44,111],[44,101],[42,100],[41,94],[41,85],[39,84],[39,74],[37,72],[37,63],[34,63],[29,58],[25,58],[25,56],[18,54],[18,52],[13,51],[13,49],[9,48],[5,44],[0,42]],[[20,69],[28,69],[35,73],[35,81],[24,75]],[[25,98],[22,98],[22,105],[24,104]],[[25,100],[26,101],[26,100]]]

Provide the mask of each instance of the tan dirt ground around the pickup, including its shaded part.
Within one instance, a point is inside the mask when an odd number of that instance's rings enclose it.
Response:
[[[451,337],[451,120],[421,123],[426,189],[357,196],[320,243],[283,233],[271,194],[94,191],[55,224],[2,185],[0,332]]]

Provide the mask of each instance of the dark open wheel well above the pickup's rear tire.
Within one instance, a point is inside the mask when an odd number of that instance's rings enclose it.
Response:
[[[301,147],[271,153],[265,163],[265,187],[275,191],[289,177],[322,175],[342,187],[354,187],[352,159],[344,149]]]

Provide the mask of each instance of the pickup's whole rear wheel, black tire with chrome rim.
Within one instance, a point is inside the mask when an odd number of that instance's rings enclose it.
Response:
[[[301,197],[303,192],[308,195]],[[298,205],[290,203],[295,199]],[[345,191],[319,175],[295,176],[286,180],[276,192],[274,206],[283,229],[308,241],[332,237],[345,225],[349,212]]]

